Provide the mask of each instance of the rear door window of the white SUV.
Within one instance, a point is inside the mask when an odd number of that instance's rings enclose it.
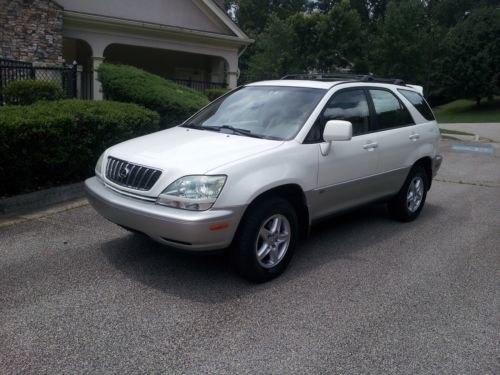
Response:
[[[393,93],[385,90],[369,91],[380,130],[415,124],[410,112]]]

